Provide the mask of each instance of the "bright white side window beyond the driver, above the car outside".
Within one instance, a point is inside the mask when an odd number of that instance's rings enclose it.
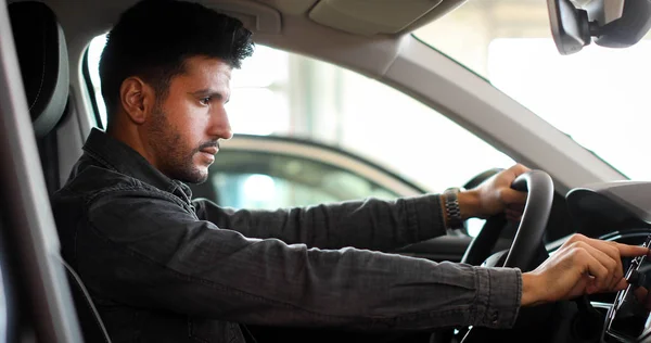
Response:
[[[88,59],[102,111],[98,63],[104,41],[103,35],[92,40]],[[227,111],[235,135],[284,136],[336,147],[430,192],[463,186],[481,172],[514,163],[432,107],[316,59],[258,45],[242,68],[233,71],[232,80]]]

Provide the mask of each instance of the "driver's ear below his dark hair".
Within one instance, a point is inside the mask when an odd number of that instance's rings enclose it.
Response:
[[[152,112],[155,101],[154,90],[141,78],[126,78],[119,87],[119,101],[131,122],[142,125]]]

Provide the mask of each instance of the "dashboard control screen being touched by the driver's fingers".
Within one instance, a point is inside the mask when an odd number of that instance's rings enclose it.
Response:
[[[643,246],[649,246],[651,234]],[[625,275],[628,287],[620,291],[605,318],[605,342],[641,342],[651,338],[651,261],[649,256],[630,259]]]

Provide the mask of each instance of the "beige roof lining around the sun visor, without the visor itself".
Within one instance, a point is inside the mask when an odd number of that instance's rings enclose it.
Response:
[[[18,1],[23,0],[10,2]],[[76,59],[80,60],[89,41],[107,31],[122,11],[137,2],[137,0],[78,1],[75,3],[75,11],[71,11],[68,0],[42,1],[56,13],[66,31],[72,62]],[[398,53],[401,36],[464,2],[464,0],[441,0],[433,10],[396,34],[355,35],[317,24],[309,17],[308,13],[318,3],[329,1],[336,0],[201,0],[199,2],[240,18],[254,33],[254,40],[257,43],[318,56],[371,77],[382,76],[390,67]],[[403,0],[396,1],[398,3],[396,5],[399,5]],[[374,1],[359,0],[359,2],[372,7]],[[378,13],[382,15],[381,11]],[[314,37],[322,39],[315,41]],[[373,51],[372,54],[369,54],[369,49]],[[358,62],[360,54],[365,54],[362,63]]]

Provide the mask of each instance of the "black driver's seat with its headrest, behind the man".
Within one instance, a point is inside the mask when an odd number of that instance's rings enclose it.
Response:
[[[63,29],[54,12],[36,1],[8,5],[21,74],[27,96],[39,154],[50,194],[58,188],[56,124],[65,114],[69,89],[69,66]],[[52,167],[53,166],[53,167]],[[90,294],[75,270],[60,256],[77,309],[78,321],[88,342],[111,342]]]

